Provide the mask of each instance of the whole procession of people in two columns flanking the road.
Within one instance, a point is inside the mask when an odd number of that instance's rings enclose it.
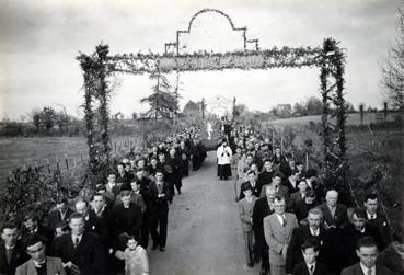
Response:
[[[91,196],[58,196],[46,219],[28,213],[3,224],[0,274],[149,274],[148,253],[166,251],[169,211],[184,196],[183,179],[207,157],[200,131],[193,127],[122,159]],[[249,268],[404,274],[402,230],[391,228],[376,192],[348,210],[338,190],[325,188],[315,169],[259,129],[234,125],[223,134],[215,176],[234,194]]]

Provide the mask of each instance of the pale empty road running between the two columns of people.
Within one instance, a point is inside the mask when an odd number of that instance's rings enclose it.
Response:
[[[152,275],[258,274],[249,268],[234,202],[233,180],[216,176],[216,156],[183,179],[183,194],[170,207],[166,251],[150,251]]]

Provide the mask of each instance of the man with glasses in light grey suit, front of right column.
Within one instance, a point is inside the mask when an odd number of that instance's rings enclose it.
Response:
[[[282,196],[275,196],[275,213],[264,218],[264,233],[269,247],[269,265],[272,275],[286,274],[286,254],[289,241],[298,219],[295,214],[286,213],[286,202]]]

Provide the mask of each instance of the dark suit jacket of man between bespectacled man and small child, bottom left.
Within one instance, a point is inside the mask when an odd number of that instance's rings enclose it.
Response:
[[[60,257],[64,263],[71,261],[79,266],[82,275],[105,272],[104,249],[95,234],[84,231],[77,249],[73,245],[71,233],[55,238],[54,242],[54,256]]]

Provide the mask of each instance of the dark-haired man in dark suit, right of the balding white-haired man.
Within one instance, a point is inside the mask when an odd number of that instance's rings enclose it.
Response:
[[[368,225],[371,225],[379,230],[383,241],[383,248],[388,247],[392,242],[392,232],[385,215],[382,211],[378,211],[378,195],[374,193],[368,194],[365,197],[363,206],[366,209]]]

